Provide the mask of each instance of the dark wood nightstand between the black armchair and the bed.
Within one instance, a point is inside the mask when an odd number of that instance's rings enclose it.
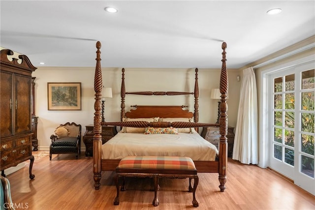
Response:
[[[94,125],[87,125],[86,131],[83,136],[83,142],[85,144],[85,156],[93,156],[93,140],[94,140]],[[102,145],[110,140],[113,136],[117,134],[116,126],[107,125],[102,126]]]

